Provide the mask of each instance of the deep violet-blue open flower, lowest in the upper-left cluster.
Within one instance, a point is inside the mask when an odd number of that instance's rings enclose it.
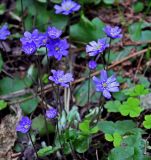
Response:
[[[50,40],[46,47],[48,48],[48,56],[54,56],[58,61],[62,56],[68,55],[69,44],[65,39]]]

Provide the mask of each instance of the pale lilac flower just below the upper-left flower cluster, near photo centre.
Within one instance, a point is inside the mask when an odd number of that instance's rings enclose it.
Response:
[[[53,73],[53,76],[50,76],[49,80],[63,87],[69,87],[68,83],[74,80],[71,73],[64,74],[64,71],[61,70],[51,70],[51,72]]]

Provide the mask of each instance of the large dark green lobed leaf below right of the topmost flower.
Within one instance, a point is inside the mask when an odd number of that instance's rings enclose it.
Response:
[[[82,16],[78,24],[70,27],[70,36],[74,41],[90,42],[103,38],[105,33],[102,31],[105,25],[99,18],[94,18],[92,21]]]

